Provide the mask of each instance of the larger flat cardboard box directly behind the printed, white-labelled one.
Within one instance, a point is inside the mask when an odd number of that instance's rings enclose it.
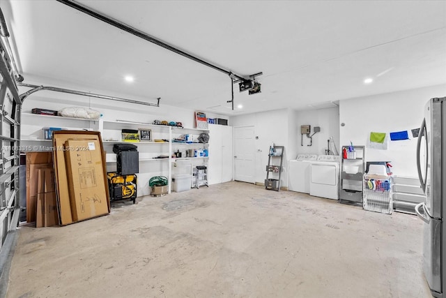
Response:
[[[54,175],[56,177],[56,203],[59,211],[59,224],[69,225],[75,223],[71,215],[70,193],[68,190],[68,179],[65,162],[64,144],[68,139],[98,140],[102,151],[102,164],[105,169],[105,152],[102,147],[102,139],[98,131],[54,131],[53,133],[53,157],[54,157]],[[107,183],[107,177],[104,178]],[[107,198],[109,198],[108,189],[106,190]],[[108,211],[110,211],[110,203],[107,200]]]

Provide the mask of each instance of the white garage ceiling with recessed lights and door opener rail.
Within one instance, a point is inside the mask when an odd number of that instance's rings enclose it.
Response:
[[[77,3],[237,75],[263,72],[262,92],[234,85],[243,108],[232,111],[224,73],[57,1],[2,0],[25,83],[217,114],[305,110],[446,83],[446,1]]]

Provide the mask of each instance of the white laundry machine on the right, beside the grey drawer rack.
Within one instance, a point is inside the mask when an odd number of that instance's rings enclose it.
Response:
[[[309,194],[316,197],[339,199],[339,164],[341,156],[320,155],[310,165]]]

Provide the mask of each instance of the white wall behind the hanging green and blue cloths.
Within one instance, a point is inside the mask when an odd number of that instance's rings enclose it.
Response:
[[[392,172],[417,177],[417,138],[410,132],[419,128],[424,105],[433,97],[446,96],[446,84],[390,94],[351,98],[339,103],[341,144],[367,144],[371,131],[391,133],[408,131],[410,140],[389,141],[387,150],[366,149],[366,161],[392,161]]]

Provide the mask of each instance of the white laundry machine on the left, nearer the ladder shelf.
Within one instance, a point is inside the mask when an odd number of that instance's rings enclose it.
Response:
[[[316,154],[299,154],[298,158],[289,161],[288,189],[299,193],[309,193],[309,166],[316,161]]]

